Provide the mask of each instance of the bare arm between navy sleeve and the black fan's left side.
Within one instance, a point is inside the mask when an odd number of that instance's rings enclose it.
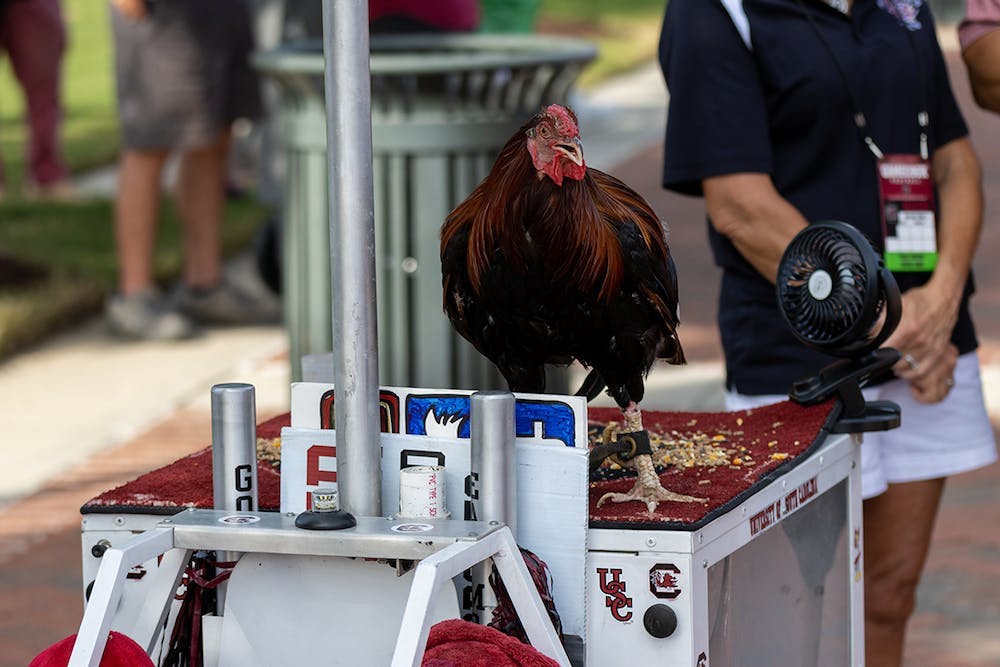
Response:
[[[714,176],[702,181],[712,226],[729,238],[761,275],[774,282],[785,248],[808,224],[767,174]]]

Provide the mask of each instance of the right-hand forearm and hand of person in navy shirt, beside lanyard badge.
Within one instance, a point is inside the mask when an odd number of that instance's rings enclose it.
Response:
[[[937,268],[927,283],[903,294],[902,318],[885,343],[917,362],[916,368],[901,362],[895,370],[910,382],[917,400],[926,403],[948,393],[957,356],[951,333],[983,218],[982,174],[967,137],[934,152],[933,172],[939,211]]]

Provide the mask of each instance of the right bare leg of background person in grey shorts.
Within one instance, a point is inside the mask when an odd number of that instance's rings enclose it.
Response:
[[[184,282],[215,287],[222,280],[222,212],[228,133],[189,150],[181,160],[177,206],[184,227]]]

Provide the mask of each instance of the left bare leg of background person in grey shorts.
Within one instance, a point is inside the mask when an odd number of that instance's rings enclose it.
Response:
[[[118,291],[133,294],[153,285],[153,248],[159,224],[160,176],[167,151],[122,153],[115,194]]]

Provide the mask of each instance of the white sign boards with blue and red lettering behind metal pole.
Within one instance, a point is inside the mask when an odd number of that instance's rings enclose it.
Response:
[[[399,510],[399,471],[445,467],[451,516],[469,516],[469,404],[472,392],[383,388],[382,511]],[[586,401],[577,396],[516,395],[517,542],[548,565],[563,630],[583,636],[587,540]],[[336,487],[333,388],[292,385],[292,427],[281,432],[281,511],[309,507],[309,492]],[[541,446],[540,446],[541,445]]]

